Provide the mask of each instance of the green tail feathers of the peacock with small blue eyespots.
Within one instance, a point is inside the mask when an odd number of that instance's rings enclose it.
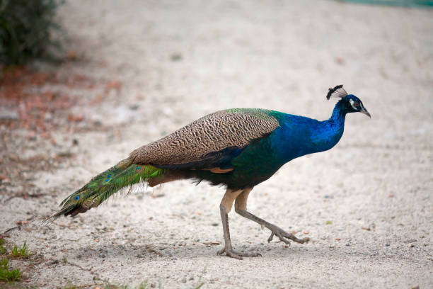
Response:
[[[65,198],[60,205],[62,209],[47,221],[55,220],[62,215],[77,215],[97,207],[122,188],[130,187],[156,176],[163,176],[166,169],[158,169],[151,165],[132,164],[128,159],[112,166],[107,171],[93,177],[75,193]]]

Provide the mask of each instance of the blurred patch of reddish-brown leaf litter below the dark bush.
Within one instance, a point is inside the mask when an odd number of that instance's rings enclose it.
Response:
[[[0,107],[15,111],[13,118],[1,118],[9,130],[24,128],[29,135],[50,138],[58,126],[54,118],[66,118],[68,123],[80,123],[83,115],[69,113],[69,108],[83,105],[76,96],[69,96],[67,89],[104,89],[105,93],[96,96],[88,104],[95,105],[112,89],[120,90],[120,81],[107,81],[98,84],[81,74],[60,75],[57,72],[35,72],[27,67],[3,69],[0,72]],[[62,89],[63,88],[63,89]],[[66,88],[66,89],[65,89]],[[18,114],[18,117],[16,117]]]

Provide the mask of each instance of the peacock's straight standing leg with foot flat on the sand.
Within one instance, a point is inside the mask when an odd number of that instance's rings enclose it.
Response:
[[[222,221],[223,232],[224,232],[224,248],[219,250],[217,253],[218,255],[226,253],[226,256],[236,258],[236,259],[241,259],[241,260],[243,259],[242,256],[250,256],[250,257],[262,256],[258,253],[243,253],[239,251],[234,251],[233,247],[231,246],[228,212],[230,212],[231,207],[233,206],[233,201],[242,192],[243,192],[242,190],[233,191],[227,189],[226,193],[224,194],[224,198],[221,200],[221,205],[219,205],[219,210],[221,212],[221,221]]]

